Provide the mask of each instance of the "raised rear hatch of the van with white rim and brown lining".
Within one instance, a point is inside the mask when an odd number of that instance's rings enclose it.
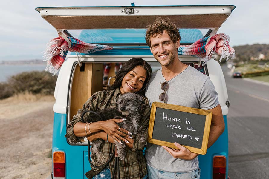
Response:
[[[208,29],[215,35],[235,9],[233,5],[37,7],[55,29],[71,36],[71,29],[145,29],[157,17],[170,18],[178,28]]]

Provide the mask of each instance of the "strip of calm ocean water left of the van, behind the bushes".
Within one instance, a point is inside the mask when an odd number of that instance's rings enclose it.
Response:
[[[7,81],[8,77],[11,77],[21,72],[45,71],[46,66],[46,64],[0,64],[0,82]]]

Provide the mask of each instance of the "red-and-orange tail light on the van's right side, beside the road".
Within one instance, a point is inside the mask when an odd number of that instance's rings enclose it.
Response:
[[[215,156],[213,158],[213,179],[225,179],[226,177],[226,157]]]

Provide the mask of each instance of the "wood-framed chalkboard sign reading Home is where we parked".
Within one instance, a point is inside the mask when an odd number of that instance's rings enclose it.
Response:
[[[153,102],[148,142],[171,148],[177,142],[191,152],[206,154],[211,118],[209,110]]]

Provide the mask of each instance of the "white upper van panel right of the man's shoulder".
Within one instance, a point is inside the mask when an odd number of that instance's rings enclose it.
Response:
[[[207,62],[207,70],[209,73],[209,78],[214,84],[215,90],[218,93],[218,101],[221,105],[222,114],[227,115],[228,107],[226,105],[226,101],[228,99],[228,93],[221,66],[217,61],[211,59]]]

